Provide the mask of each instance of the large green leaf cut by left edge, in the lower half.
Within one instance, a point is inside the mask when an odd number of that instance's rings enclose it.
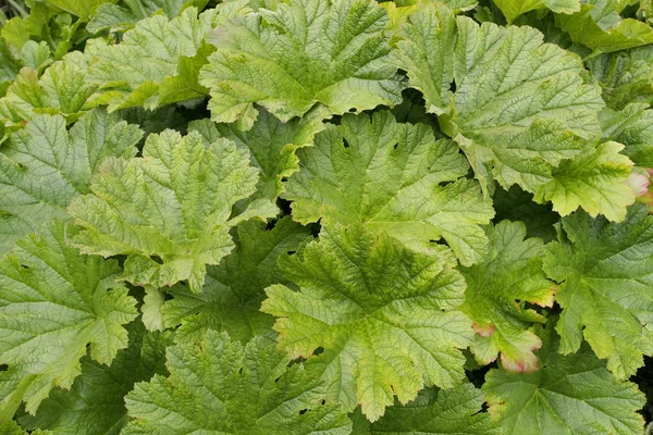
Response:
[[[110,364],[127,346],[123,325],[136,300],[116,283],[116,261],[82,256],[66,245],[75,235],[60,222],[44,225],[0,260],[0,421],[21,401],[36,413],[56,386],[70,388],[87,353]]]

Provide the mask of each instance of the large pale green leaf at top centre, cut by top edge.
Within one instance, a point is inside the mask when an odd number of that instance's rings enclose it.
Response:
[[[401,102],[386,24],[372,0],[287,0],[230,21],[209,38],[218,50],[200,74],[213,121],[249,129],[255,102],[284,122],[317,102],[333,114]]]

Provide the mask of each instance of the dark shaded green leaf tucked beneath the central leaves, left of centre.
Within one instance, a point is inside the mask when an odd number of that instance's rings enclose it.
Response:
[[[204,291],[193,294],[186,286],[168,290],[173,299],[163,304],[167,327],[177,339],[199,339],[206,330],[226,331],[243,343],[257,334],[268,334],[274,319],[259,311],[264,288],[287,283],[276,260],[297,250],[309,229],[284,217],[272,231],[264,224],[244,222],[236,229],[236,248],[220,265],[208,268]]]

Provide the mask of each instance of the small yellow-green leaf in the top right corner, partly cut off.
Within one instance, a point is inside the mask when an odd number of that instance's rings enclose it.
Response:
[[[555,22],[571,40],[592,50],[612,52],[653,44],[653,28],[619,16],[613,0],[588,0],[579,12],[556,15]]]

